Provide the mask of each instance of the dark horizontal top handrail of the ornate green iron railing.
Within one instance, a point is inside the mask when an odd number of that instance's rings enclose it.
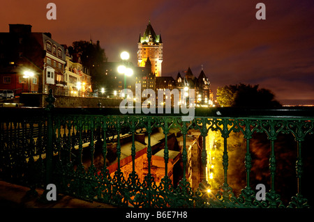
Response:
[[[40,107],[1,107],[1,116],[8,118],[13,116],[13,113],[18,110],[23,110],[23,113],[45,113],[45,108]],[[119,107],[56,107],[52,110],[53,113],[71,114],[71,115],[101,115],[101,116],[121,116],[123,115]],[[135,108],[133,113],[127,113],[128,116],[165,116],[179,117],[186,116],[182,113],[174,113],[173,109],[170,113],[136,113]],[[298,118],[306,120],[314,120],[314,107],[283,107],[276,109],[252,109],[240,107],[211,107],[211,108],[195,108],[195,118]],[[1,118],[1,117],[0,117]]]

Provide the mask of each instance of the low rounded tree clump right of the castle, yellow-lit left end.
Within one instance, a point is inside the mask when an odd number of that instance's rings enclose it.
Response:
[[[220,106],[272,108],[281,106],[270,90],[258,85],[237,84],[218,87],[217,102]]]

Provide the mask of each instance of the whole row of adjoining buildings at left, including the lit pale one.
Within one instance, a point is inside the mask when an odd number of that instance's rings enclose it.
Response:
[[[85,96],[91,91],[89,70],[79,54],[52,39],[51,33],[32,32],[29,24],[9,24],[0,33],[0,88],[21,93]]]

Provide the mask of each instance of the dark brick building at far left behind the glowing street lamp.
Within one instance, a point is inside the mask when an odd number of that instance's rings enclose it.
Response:
[[[0,33],[0,88],[20,94],[59,87],[56,81],[63,81],[66,64],[63,46],[50,33],[31,32],[29,24],[9,27],[8,33]]]

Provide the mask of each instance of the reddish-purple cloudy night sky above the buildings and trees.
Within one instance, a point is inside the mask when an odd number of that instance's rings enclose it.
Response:
[[[57,5],[48,20],[47,3]],[[266,5],[257,20],[256,4]],[[137,41],[151,20],[163,38],[163,76],[204,68],[216,88],[259,84],[278,100],[314,100],[313,0],[10,0],[1,1],[0,32],[8,24],[31,24],[60,44],[100,41],[108,61],[122,50],[137,65]]]

